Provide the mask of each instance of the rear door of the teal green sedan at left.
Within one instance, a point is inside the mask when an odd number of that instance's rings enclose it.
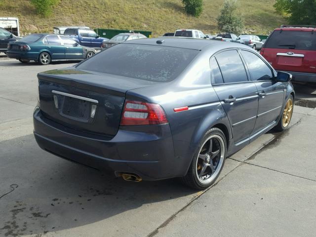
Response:
[[[52,60],[65,59],[65,46],[62,45],[57,35],[46,36],[43,42],[49,50]]]

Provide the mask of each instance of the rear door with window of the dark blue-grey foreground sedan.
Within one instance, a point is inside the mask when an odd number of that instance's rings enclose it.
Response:
[[[211,58],[212,85],[232,125],[234,142],[252,132],[258,111],[255,83],[248,80],[236,49],[222,51]]]

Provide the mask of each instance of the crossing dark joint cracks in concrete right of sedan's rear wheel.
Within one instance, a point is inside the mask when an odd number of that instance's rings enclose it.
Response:
[[[306,115],[307,116],[307,115]],[[304,117],[303,117],[304,118]],[[162,224],[160,224],[153,232],[151,232],[149,235],[147,235],[147,237],[154,237],[158,234],[159,232],[159,229],[161,228],[164,228],[166,227],[180,212],[184,211],[187,207],[189,207],[195,200],[197,200],[197,198],[201,197],[204,193],[206,193],[207,191],[209,191],[212,187],[216,186],[219,182],[221,182],[224,178],[226,178],[229,174],[231,174],[233,171],[235,171],[238,167],[240,167],[241,165],[244,165],[244,164],[250,164],[250,165],[254,165],[254,166],[258,166],[258,167],[262,167],[262,168],[267,168],[267,167],[263,167],[263,166],[260,166],[260,165],[256,165],[256,164],[251,164],[251,163],[248,163],[246,162],[247,160],[249,159],[253,159],[255,158],[256,155],[258,155],[259,153],[261,153],[262,151],[264,151],[265,149],[267,149],[270,145],[273,144],[273,141],[275,141],[277,138],[282,138],[283,136],[285,136],[284,134],[286,134],[289,129],[291,129],[293,126],[297,126],[298,124],[301,123],[302,119],[301,118],[300,120],[298,120],[296,123],[294,123],[293,125],[291,125],[290,127],[288,127],[285,131],[283,132],[280,132],[278,134],[276,134],[276,136],[271,139],[269,142],[267,142],[263,147],[261,147],[261,149],[258,149],[257,152],[253,153],[251,156],[249,156],[249,158],[243,160],[243,161],[240,161],[240,160],[237,160],[237,159],[234,159],[234,158],[228,158],[228,159],[232,159],[232,160],[235,160],[235,161],[238,161],[240,162],[235,168],[233,168],[230,172],[228,172],[226,175],[224,175],[222,178],[218,179],[218,181],[216,183],[214,183],[213,185],[211,185],[210,187],[208,187],[207,189],[201,191],[197,197],[194,197],[191,201],[189,201],[184,207],[182,207],[180,210],[176,211],[174,214],[172,214],[168,219],[166,219]],[[270,168],[267,168],[267,169],[270,169]],[[278,170],[274,170],[274,169],[270,169],[270,170],[273,170],[273,171],[276,171],[276,172],[280,172],[280,173],[284,173],[284,174],[288,174],[288,175],[291,175],[289,173],[285,173],[285,172],[282,172],[282,171],[278,171]],[[292,175],[292,176],[295,176],[295,177],[299,177],[299,178],[303,178],[303,179],[308,179],[308,180],[311,180],[311,181],[316,181],[316,180],[313,180],[313,179],[309,179],[309,178],[304,178],[304,177],[300,177],[300,176],[297,176],[297,175]]]

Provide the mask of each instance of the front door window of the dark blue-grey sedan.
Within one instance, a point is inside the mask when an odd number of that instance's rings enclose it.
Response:
[[[256,54],[241,50],[241,54],[248,65],[251,80],[270,80],[273,78],[272,70]]]

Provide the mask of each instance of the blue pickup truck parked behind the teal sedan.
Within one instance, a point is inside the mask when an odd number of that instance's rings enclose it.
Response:
[[[64,35],[75,40],[80,45],[92,48],[100,48],[103,40],[109,40],[108,38],[99,37],[93,30],[81,28],[68,28],[65,30]]]

